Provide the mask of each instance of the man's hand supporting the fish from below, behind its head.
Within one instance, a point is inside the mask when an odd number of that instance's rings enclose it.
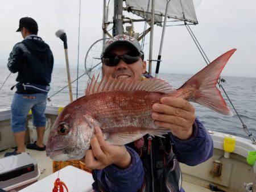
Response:
[[[92,149],[85,154],[85,165],[89,169],[104,169],[115,164],[121,169],[127,168],[131,163],[130,153],[125,146],[110,145],[104,140],[101,129],[94,128],[95,135],[90,141]]]

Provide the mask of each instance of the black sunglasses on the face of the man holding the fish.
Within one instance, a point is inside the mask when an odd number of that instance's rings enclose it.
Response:
[[[137,62],[140,57],[143,60],[143,56],[140,56],[140,55],[134,54],[134,53],[126,53],[123,55],[112,54],[112,55],[106,55],[106,56],[102,57],[101,61],[102,61],[102,63],[104,63],[107,66],[116,66],[121,59],[126,64],[133,64],[134,62]]]

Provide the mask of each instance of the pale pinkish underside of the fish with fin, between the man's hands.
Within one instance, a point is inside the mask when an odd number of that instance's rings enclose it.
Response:
[[[114,127],[102,130],[106,141],[113,145],[125,145],[143,137],[146,134],[152,136],[164,137],[163,135],[170,132],[166,128],[143,128],[143,127]]]

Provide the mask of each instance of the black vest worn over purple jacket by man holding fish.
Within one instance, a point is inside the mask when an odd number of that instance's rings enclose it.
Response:
[[[137,149],[134,143],[127,146],[133,148],[141,157],[144,168],[144,182],[141,190],[145,192],[179,192],[181,188],[181,171],[179,162],[172,151],[172,141],[170,135],[164,135],[165,138],[152,137],[150,151],[148,151],[148,135],[143,137],[143,147]],[[98,191],[108,191],[104,189],[97,180],[93,183]],[[133,192],[133,191],[131,191]]]

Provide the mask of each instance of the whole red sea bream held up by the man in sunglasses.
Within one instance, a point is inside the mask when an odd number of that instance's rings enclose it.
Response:
[[[151,118],[152,105],[162,97],[179,97],[224,115],[232,115],[216,87],[218,77],[236,49],[224,53],[179,89],[152,78],[93,78],[86,95],[67,105],[53,124],[47,155],[56,161],[78,160],[90,147],[94,127],[100,127],[110,144],[124,145],[146,134],[163,136],[170,132]]]

